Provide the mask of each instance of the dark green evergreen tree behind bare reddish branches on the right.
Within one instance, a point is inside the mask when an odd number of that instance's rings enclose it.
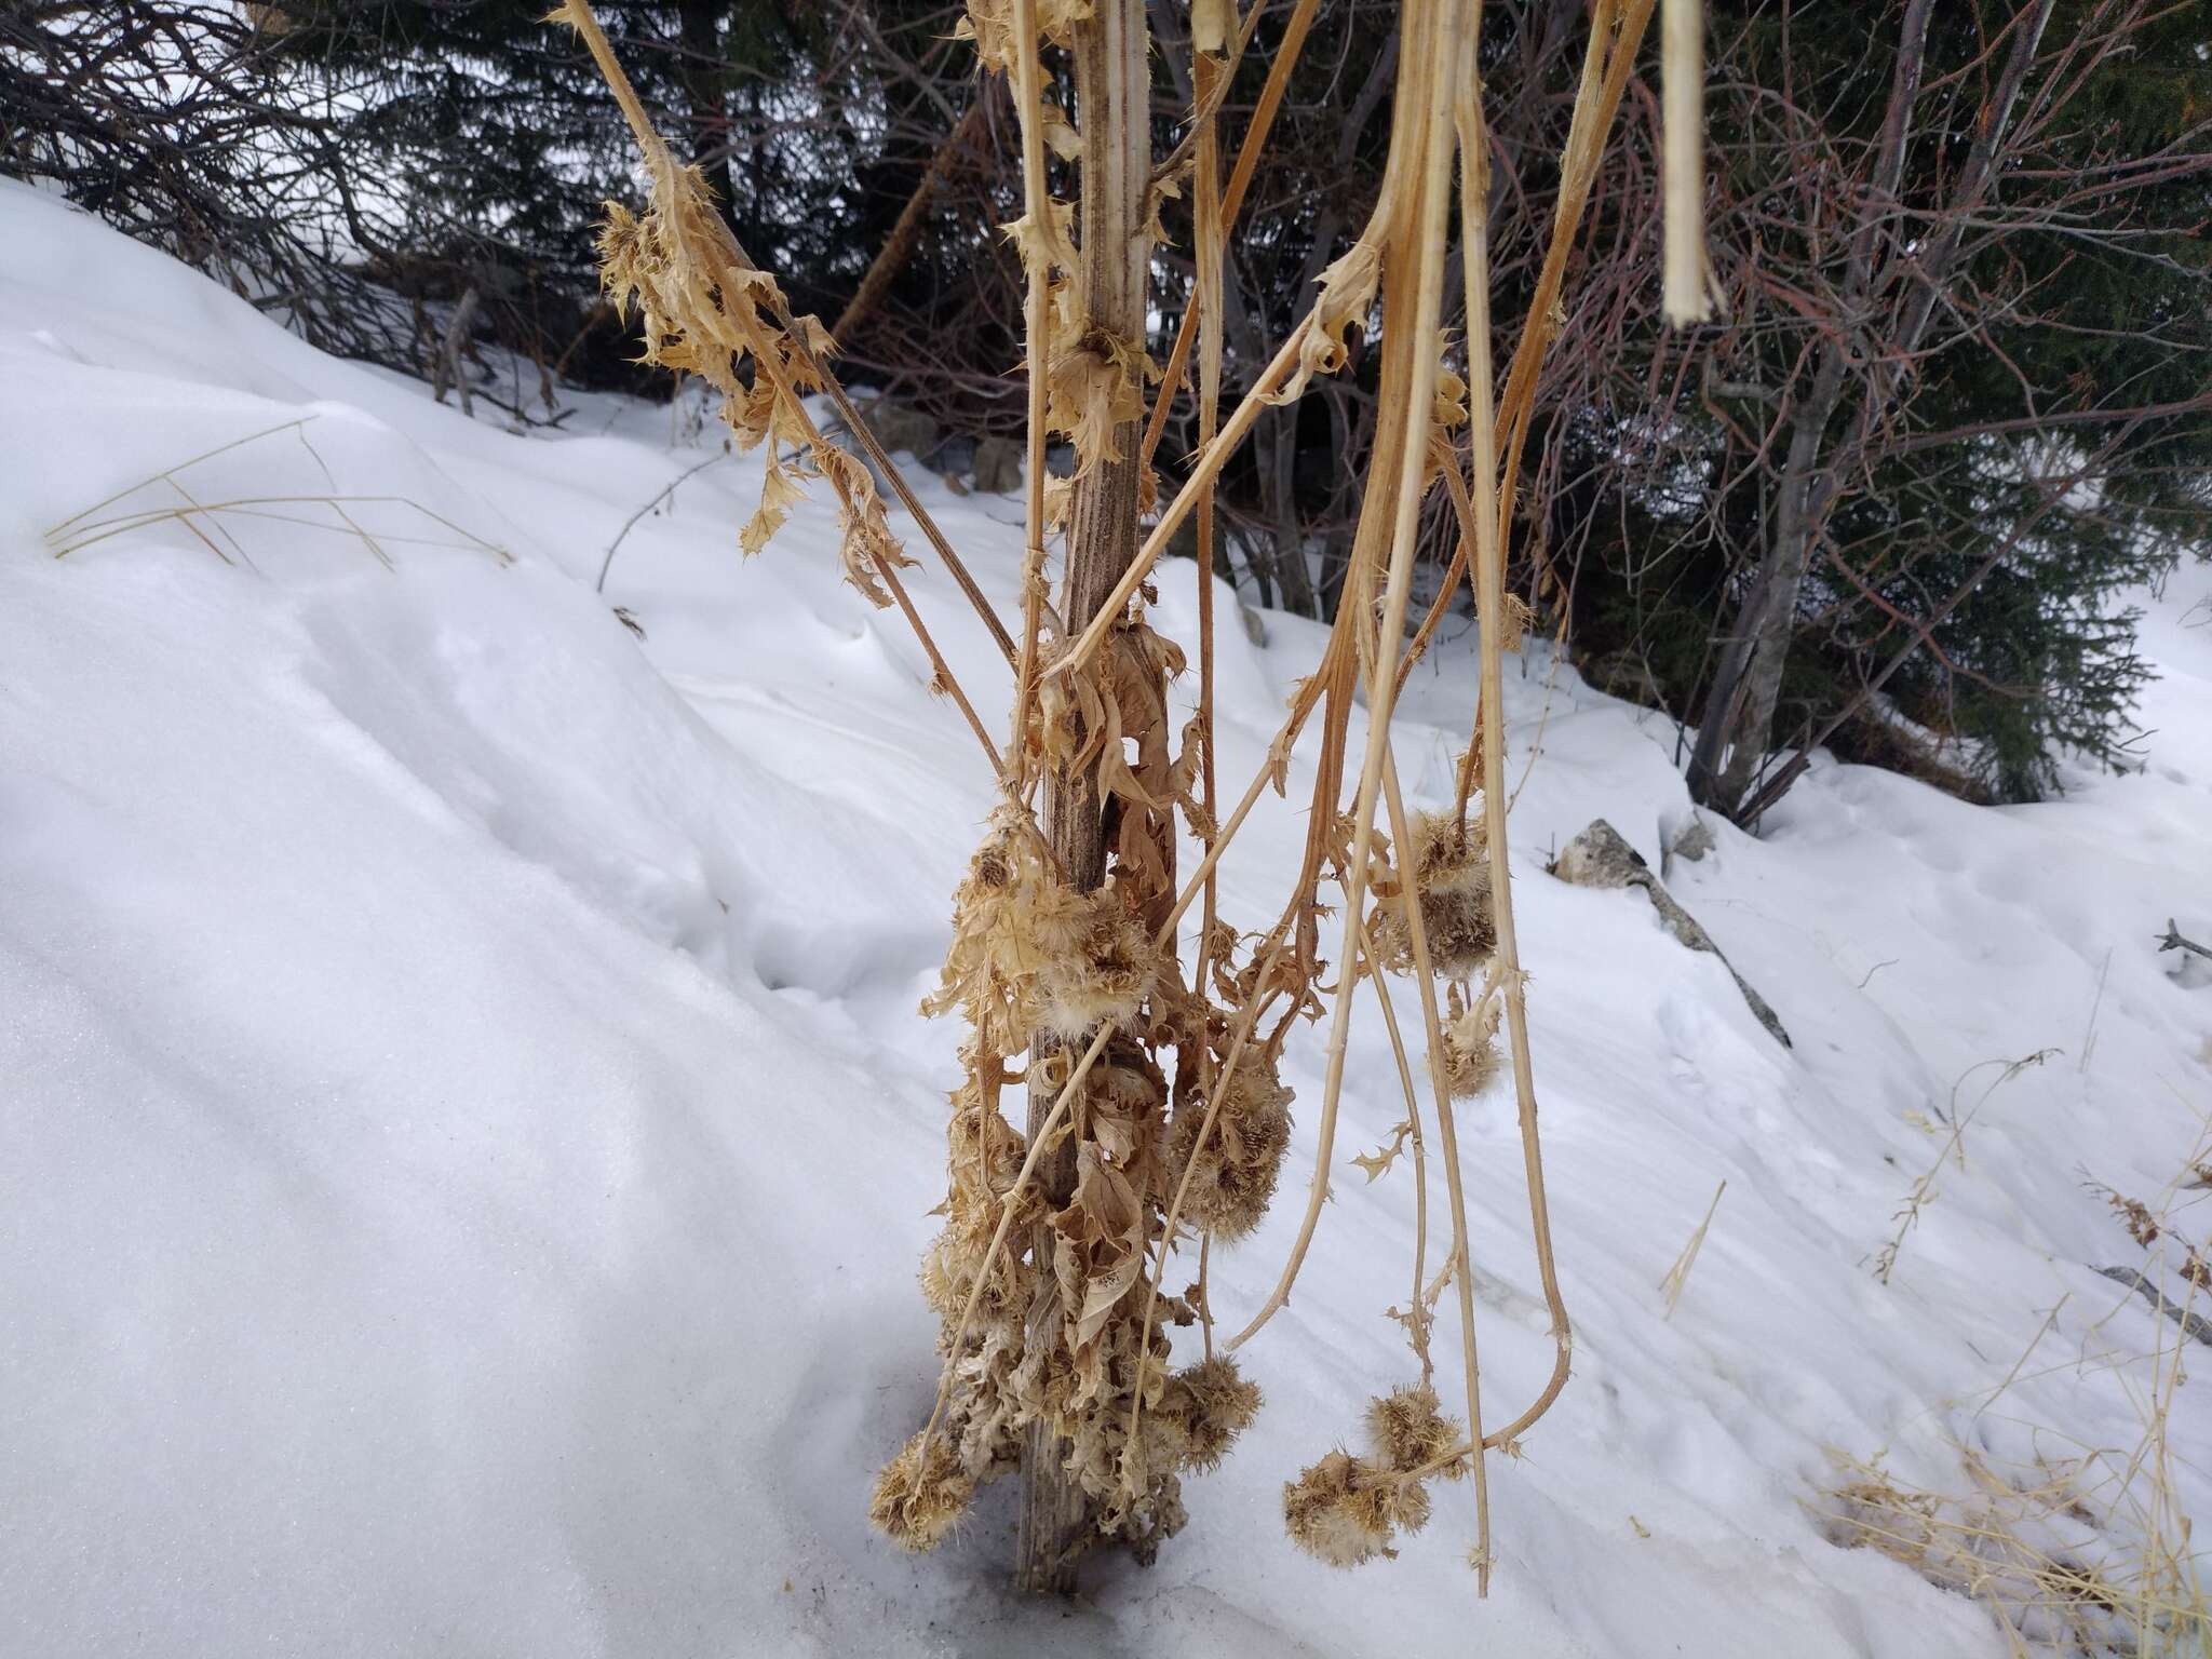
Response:
[[[1962,739],[2002,799],[2051,787],[2066,750],[2112,759],[2143,677],[2126,588],[2212,524],[2212,7],[1905,11],[1924,66],[1898,100],[1898,7],[1717,7],[1728,316],[1688,336],[1648,319],[1553,431],[1559,471],[1601,480],[1559,526],[1590,529],[1582,644],[1648,664],[1703,721],[1692,787],[1721,807],[1759,799],[1747,763],[1770,739],[1816,737],[1854,701],[1838,741],[1893,752],[1887,699]],[[1986,190],[1962,199],[1978,166]],[[1652,385],[1681,387],[1663,420],[1610,414]],[[1745,721],[1730,639],[1776,597],[1787,493],[1807,484],[1767,728]]]

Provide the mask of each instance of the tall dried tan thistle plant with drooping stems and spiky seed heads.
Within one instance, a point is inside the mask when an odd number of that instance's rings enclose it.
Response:
[[[964,1082],[951,1095],[945,1225],[922,1263],[925,1296],[942,1321],[938,1396],[922,1431],[885,1464],[872,1502],[874,1522],[905,1546],[949,1537],[975,1486],[1013,1469],[1024,1480],[1024,1584],[1066,1588],[1068,1562],[1104,1537],[1150,1557],[1183,1524],[1181,1475],[1219,1464],[1259,1409],[1259,1387],[1234,1356],[1285,1305],[1314,1245],[1336,1161],[1349,1013],[1367,984],[1389,1029],[1405,1121],[1383,1152],[1356,1161],[1380,1179],[1411,1148],[1411,1290],[1405,1307],[1389,1312],[1407,1329],[1420,1376],[1371,1402],[1365,1458],[1332,1451],[1285,1486],[1285,1524],[1323,1559],[1365,1562],[1427,1522],[1429,1480],[1464,1475],[1475,1500],[1478,1586],[1489,1586],[1484,1453],[1513,1444],[1551,1407],[1571,1356],[1513,933],[1502,653],[1517,646],[1526,611],[1504,595],[1504,542],[1566,254],[1652,4],[1595,7],[1559,212],[1502,394],[1489,358],[1480,11],[1473,0],[1436,0],[1402,13],[1391,153],[1365,228],[1323,272],[1312,310],[1256,385],[1221,418],[1228,234],[1316,0],[1298,0],[1285,22],[1228,179],[1223,91],[1256,4],[1241,20],[1230,0],[1192,7],[1190,128],[1155,166],[1139,0],[969,0],[960,33],[987,71],[1006,77],[1022,139],[1022,215],[1006,226],[1026,274],[1020,633],[987,617],[1013,668],[1002,752],[905,599],[902,555],[865,469],[825,447],[805,416],[805,392],[841,398],[827,369],[832,343],[812,319],[790,314],[774,279],[743,259],[699,179],[650,133],[584,0],[555,13],[591,42],[653,177],[653,206],[641,217],[611,210],[602,241],[608,285],[644,305],[657,361],[708,376],[739,440],[768,447],[761,513],[745,546],[774,531],[799,478],[825,478],[841,504],[847,575],[867,597],[900,604],[1000,781],[1000,805],[953,896],[942,982],[925,1002],[929,1013],[958,1015],[967,1035]],[[1073,124],[1044,91],[1060,84],[1044,53],[1064,53],[1073,69]],[[1679,53],[1668,73],[1674,106],[1674,82],[1686,73]],[[1079,161],[1073,199],[1053,195],[1055,157]],[[1161,237],[1159,199],[1170,190],[1188,190],[1192,201],[1197,283],[1146,418],[1146,279]],[[1679,201],[1681,192],[1670,197]],[[1464,343],[1442,330],[1453,210]],[[1365,332],[1378,305],[1387,327],[1371,487],[1347,599],[1265,763],[1223,814],[1212,588],[1199,582],[1197,710],[1177,723],[1168,681],[1186,661],[1146,617],[1152,571],[1192,513],[1199,568],[1210,566],[1223,462],[1263,409],[1345,367],[1352,332]],[[1464,363],[1447,363],[1458,352]],[[1192,354],[1199,451],[1159,504],[1152,451]],[[1075,453],[1073,478],[1051,487],[1046,436]],[[1411,630],[1411,573],[1431,498],[1449,498],[1460,546],[1447,593]],[[973,599],[958,560],[905,500]],[[1155,511],[1150,531],[1139,529],[1144,511]],[[1046,577],[1053,531],[1064,538],[1057,593]],[[1462,573],[1482,622],[1478,706],[1451,810],[1413,816],[1398,783],[1391,706]],[[1354,750],[1360,703],[1365,739]],[[1305,849],[1287,872],[1283,909],[1265,929],[1239,933],[1219,916],[1214,874],[1261,792],[1287,792],[1301,743],[1314,754]],[[1192,872],[1177,869],[1186,832],[1201,847]],[[1323,956],[1323,920],[1332,916],[1340,918],[1336,969]],[[1387,987],[1391,973],[1411,975],[1420,1002],[1427,1106]],[[1223,1340],[1210,1252],[1250,1234],[1276,1192],[1292,1126],[1281,1057],[1301,1024],[1323,1018],[1325,1082],[1305,1217],[1274,1292]],[[1506,1066],[1555,1363],[1535,1400],[1484,1431],[1471,1199],[1453,1104],[1480,1095]],[[1015,1084],[1029,1091],[1026,1121],[1004,1104]],[[1433,1113],[1449,1214],[1436,1272],[1425,1110]],[[1192,1243],[1197,1274],[1170,1290],[1170,1263]],[[1458,1303],[1464,1422],[1440,1405],[1429,1340],[1447,1287]],[[1199,1354],[1177,1367],[1172,1332],[1192,1325]]]

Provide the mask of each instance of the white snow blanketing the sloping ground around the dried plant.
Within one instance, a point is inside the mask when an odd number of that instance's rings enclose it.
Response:
[[[1248,1349],[1267,1407],[1159,1566],[1033,1606],[1002,1590],[1006,1491],[933,1557],[863,1522],[936,1385],[914,1272],[956,1033],[916,1000],[991,783],[898,613],[836,582],[827,509],[741,560],[759,471],[710,467],[597,595],[706,453],[666,409],[465,420],[7,181],[0,316],[0,1652],[1997,1655],[1982,1608],[1827,1542],[1827,1449],[1940,1482],[1947,1436],[2132,1444],[2110,1367],[1973,1402],[2062,1296],[2046,1358],[2172,1329],[2093,1272],[2139,1252],[2084,1181],[2154,1194],[2208,1102],[2212,995],[2154,951],[2168,916],[2212,936],[2205,566],[2148,599],[2141,772],[1978,810],[1823,763],[1763,841],[1674,863],[1794,1051],[1639,896],[1544,874],[1599,814],[1659,867],[1688,801],[1672,728],[1533,646],[1515,872],[1577,1338],[1495,1464],[1491,1599],[1455,1489],[1356,1573],[1281,1531],[1281,1482],[1407,1380],[1400,1166],[1336,1172]],[[361,498],[389,568],[301,502],[219,515],[230,562],[179,518],[53,557],[62,520],[268,429],[177,484]],[[1020,504],[916,487],[1011,615]],[[1186,641],[1192,582],[1161,582]],[[1312,624],[1267,635],[1221,637],[1223,776],[1318,653]],[[1464,648],[1416,672],[1416,796],[1449,790],[1471,706]],[[1301,836],[1287,803],[1254,818],[1234,920],[1272,914]],[[1878,1283],[1929,1126],[2042,1048]],[[1318,1040],[1287,1079],[1303,1190]],[[1387,1139],[1394,1088],[1363,1009],[1338,1159]],[[1511,1413],[1551,1340],[1511,1108],[1469,1119]],[[1296,1208],[1217,1254],[1221,1307],[1259,1303]],[[2212,1413],[2172,1429],[2201,1511]]]

